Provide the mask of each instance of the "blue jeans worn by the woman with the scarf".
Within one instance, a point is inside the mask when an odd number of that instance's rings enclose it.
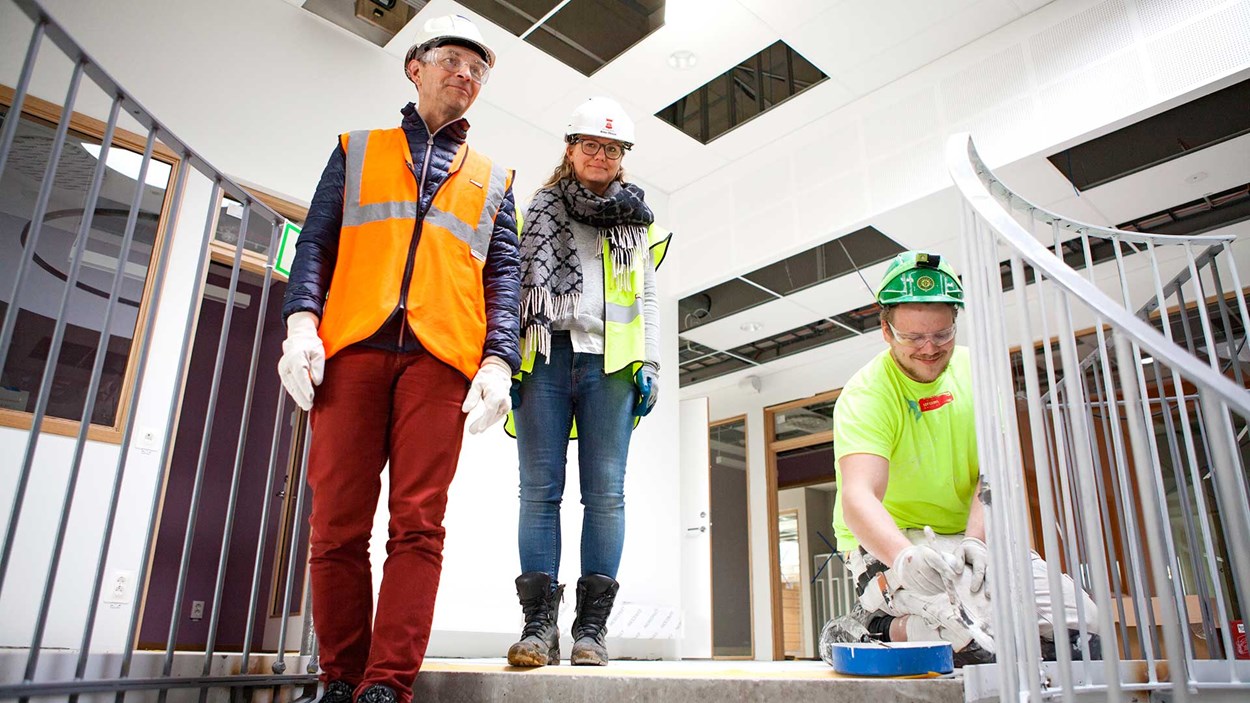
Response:
[[[551,335],[521,383],[516,449],[521,462],[518,547],[521,573],[560,570],[560,500],[569,430],[578,422],[581,482],[581,574],[616,578],[625,543],[625,459],[638,390],[630,369],[604,374],[601,354],[578,354],[568,334]]]

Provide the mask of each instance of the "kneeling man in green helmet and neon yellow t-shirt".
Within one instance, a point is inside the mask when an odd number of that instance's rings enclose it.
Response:
[[[834,532],[859,603],[825,625],[821,655],[828,660],[832,642],[866,637],[945,640],[956,665],[989,663],[989,550],[971,365],[968,348],[955,345],[964,290],[941,256],[906,251],[890,263],[876,301],[889,349],[856,372],[834,409]],[[1054,658],[1046,564],[1036,553],[1032,567],[1042,650]],[[1060,632],[1074,648],[1076,593],[1065,575]],[[1084,592],[1081,598],[1092,622],[1094,603]],[[1096,655],[1098,637],[1091,639]]]

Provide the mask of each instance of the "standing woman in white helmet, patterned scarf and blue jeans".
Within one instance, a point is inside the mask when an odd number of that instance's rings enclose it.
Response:
[[[591,98],[570,118],[565,143],[521,229],[525,340],[509,429],[520,457],[516,595],[525,628],[508,652],[514,667],[560,660],[560,500],[570,438],[578,439],[584,505],[570,659],[608,663],[625,460],[634,427],[659,393],[655,266],[669,235],[655,226],[642,189],[625,183],[634,123],[615,101]]]

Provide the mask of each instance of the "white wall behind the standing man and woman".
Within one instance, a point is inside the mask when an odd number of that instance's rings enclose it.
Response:
[[[311,196],[336,134],[395,125],[399,109],[415,99],[398,59],[288,3],[46,0],[44,5],[139,103],[214,166],[296,201]],[[16,83],[30,28],[9,3],[0,3],[0,83]],[[45,40],[42,55],[54,54],[58,53]],[[68,76],[66,60],[41,61],[31,94],[59,104]],[[485,99],[490,89],[488,84],[484,99],[468,115],[472,123],[470,143],[498,163],[518,169],[515,190],[518,200],[525,203],[559,158],[561,144],[555,133],[562,125],[549,125],[548,130],[515,120]],[[108,101],[99,90],[85,88],[76,109],[104,119]],[[138,129],[128,120],[121,126]],[[645,180],[639,183],[648,188]],[[176,335],[191,301],[194,246],[202,235],[208,185],[196,184],[194,190],[188,194],[175,239],[176,271],[171,271],[169,293],[160,308],[152,362],[138,414],[141,427],[158,430],[165,427],[165,409],[179,375],[174,368]],[[664,221],[666,195],[648,188],[648,201]],[[672,269],[670,264],[660,270],[661,290],[676,288]],[[681,543],[676,480],[676,305],[671,296],[664,308],[664,392],[631,444],[625,488],[629,529],[619,574],[619,602],[676,608]],[[11,435],[8,445],[18,445],[25,433]],[[64,467],[64,454],[71,443],[61,438],[40,442],[35,464],[39,492],[31,493],[26,502],[21,523],[25,539],[20,553],[15,553],[10,574],[15,569],[20,573],[45,569],[40,564],[46,564],[48,544],[55,532],[49,520],[58,514],[52,507],[59,504],[56,495],[62,490],[56,484],[58,470]],[[116,454],[112,445],[90,444],[74,525],[79,525],[79,519],[89,525],[102,522],[106,507],[100,497],[108,494],[104,487],[111,480]],[[571,457],[575,462],[575,448]],[[124,524],[114,538],[110,569],[139,568],[158,469],[154,463],[154,457],[134,455],[128,465]],[[4,497],[0,502],[8,505],[9,487],[16,475],[15,459],[5,453],[0,468]],[[516,472],[515,444],[501,430],[466,437],[445,522],[448,540],[431,655],[502,655],[520,632],[520,608],[512,584],[519,572]],[[574,473],[569,482],[572,488],[562,513],[561,578],[570,583],[580,573],[581,505],[575,477]],[[86,529],[91,538],[66,548],[56,590],[56,603],[64,605],[59,609],[66,622],[64,628],[58,625],[49,632],[49,644],[76,645],[81,623],[74,620],[72,613],[81,609],[89,593],[85,583],[89,579],[80,572],[95,562],[92,539],[98,529]],[[379,530],[372,553],[375,570],[380,572],[385,520],[379,522]],[[75,534],[80,533],[75,527]],[[29,640],[31,610],[39,597],[32,583],[36,582],[9,580],[0,598],[0,622],[5,623],[0,628],[0,644],[20,645]],[[569,598],[571,602],[571,589]],[[129,610],[106,612],[102,619],[108,622],[101,622],[95,640],[102,647],[120,647],[125,615]],[[672,655],[675,645],[639,640],[618,643],[614,650],[658,657]]]

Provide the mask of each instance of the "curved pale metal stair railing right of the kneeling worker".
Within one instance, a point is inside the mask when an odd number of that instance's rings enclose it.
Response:
[[[1250,613],[1250,314],[1235,238],[1049,213],[968,134],[946,163],[962,198],[1000,700],[1246,695],[1232,629]],[[1064,573],[1095,603],[1075,605],[1101,662],[1089,647],[1042,662],[1035,545],[1055,612]]]

